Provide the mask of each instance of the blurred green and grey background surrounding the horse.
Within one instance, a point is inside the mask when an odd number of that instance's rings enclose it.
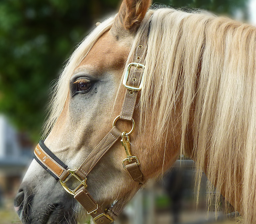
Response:
[[[256,24],[256,0],[153,2]],[[117,12],[119,5],[120,0],[0,0],[0,224],[20,223],[13,198],[32,161],[51,88],[65,61],[94,24]],[[206,223],[207,179],[202,179],[195,213],[194,175],[192,160],[177,161],[162,180],[152,180],[138,193],[117,223]],[[224,219],[220,212],[219,223],[233,223]],[[212,212],[210,222],[216,222]]]

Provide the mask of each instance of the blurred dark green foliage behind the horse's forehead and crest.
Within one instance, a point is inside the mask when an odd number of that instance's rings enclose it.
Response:
[[[158,0],[231,14],[245,0]],[[120,0],[1,0],[0,113],[38,140],[49,90],[76,45]]]

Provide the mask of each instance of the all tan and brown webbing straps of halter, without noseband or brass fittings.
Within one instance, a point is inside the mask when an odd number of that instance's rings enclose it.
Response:
[[[133,53],[133,62],[140,63],[144,65],[145,56],[147,52],[147,32],[145,29],[135,50]],[[127,79],[127,85],[138,88],[140,86],[144,68],[131,66],[130,73]],[[138,91],[131,91],[129,89],[125,92],[125,97],[120,113],[120,118],[123,120],[132,120],[134,108],[136,105]],[[76,174],[82,179],[85,179],[88,173],[100,160],[100,158],[108,151],[108,149],[121,137],[121,132],[114,126],[110,132],[101,140],[101,142],[93,149],[93,151],[87,156],[82,165],[77,169]],[[134,181],[138,181],[141,184],[143,183],[143,174],[137,165],[136,162],[126,162],[125,165],[127,171],[129,172],[131,178]],[[102,209],[99,208],[98,204],[85,187],[79,189],[74,198],[79,201],[79,203],[85,208],[85,210],[90,213],[94,218],[96,224],[106,224],[111,223],[112,220],[116,219],[120,213],[123,211],[123,208],[129,201],[128,198],[125,200],[117,201],[115,205],[104,213]],[[92,212],[94,211],[94,212]],[[99,216],[101,214],[101,216]],[[95,219],[95,217],[99,218]]]

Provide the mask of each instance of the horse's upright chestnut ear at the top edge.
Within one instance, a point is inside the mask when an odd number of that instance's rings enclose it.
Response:
[[[113,27],[136,31],[150,5],[151,0],[123,0]]]

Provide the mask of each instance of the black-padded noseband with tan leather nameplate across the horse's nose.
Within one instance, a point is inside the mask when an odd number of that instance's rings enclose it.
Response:
[[[37,144],[33,156],[56,180],[64,180],[68,175],[66,170],[68,166],[46,147],[43,140]]]

